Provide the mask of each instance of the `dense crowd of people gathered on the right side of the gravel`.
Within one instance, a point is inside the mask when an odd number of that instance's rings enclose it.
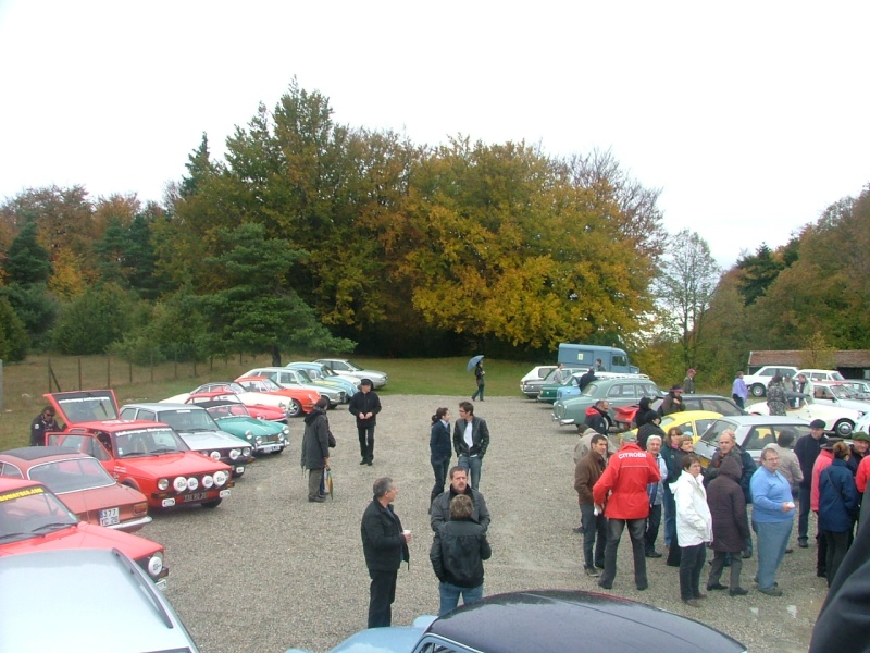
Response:
[[[679,390],[670,393],[672,404],[680,402]],[[663,530],[666,564],[679,567],[680,596],[687,605],[699,606],[707,597],[701,576],[708,549],[712,551],[708,592],[746,595],[743,560],[756,554],[757,590],[781,596],[776,572],[793,551],[795,516],[797,545],[808,547],[809,510],[818,523],[816,571],[831,584],[852,544],[870,478],[867,433],[855,433],[853,443],[846,444],[825,436],[824,422],[816,420],[810,433],[797,442],[794,433],[783,430],[756,465],[734,432],[725,430],[705,465],[693,453],[693,438],[675,427],[662,431],[661,415],[648,402],[642,402],[635,417],[636,435],[623,433],[618,451],[589,417],[574,453],[580,505],[574,532],[583,535],[584,572],[597,578],[601,588],[613,587],[617,551],[627,529],[635,587],[645,590],[647,558],[663,557],[657,549]],[[725,567],[730,572],[723,584]]]

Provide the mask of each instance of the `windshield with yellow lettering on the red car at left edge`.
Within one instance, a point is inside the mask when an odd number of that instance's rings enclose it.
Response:
[[[0,494],[0,543],[28,540],[78,523],[78,517],[45,488]]]

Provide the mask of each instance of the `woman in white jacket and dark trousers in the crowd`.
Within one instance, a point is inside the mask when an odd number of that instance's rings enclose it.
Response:
[[[680,544],[680,596],[683,603],[700,607],[700,572],[704,570],[705,546],[713,539],[713,519],[707,506],[707,491],[700,476],[700,458],[689,454],[683,458],[680,478],[671,484],[676,503],[676,541]]]

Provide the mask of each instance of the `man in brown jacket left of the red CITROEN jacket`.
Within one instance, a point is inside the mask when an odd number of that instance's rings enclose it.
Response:
[[[583,567],[586,576],[592,578],[600,576],[600,569],[604,569],[605,566],[607,518],[604,514],[596,514],[592,489],[605,471],[606,455],[607,438],[601,434],[593,435],[589,453],[581,458],[574,468],[574,490],[577,491],[577,503],[580,504],[580,528],[575,528],[574,532],[583,533]],[[593,550],[595,551],[594,556]]]

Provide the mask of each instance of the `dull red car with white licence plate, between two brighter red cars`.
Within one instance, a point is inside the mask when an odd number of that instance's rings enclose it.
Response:
[[[44,483],[82,521],[132,533],[151,521],[148,500],[116,482],[97,458],[59,446],[0,454],[0,476]]]

